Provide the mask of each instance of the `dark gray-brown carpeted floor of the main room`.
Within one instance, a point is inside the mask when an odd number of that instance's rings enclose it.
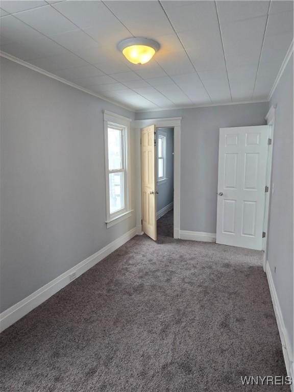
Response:
[[[288,391],[260,252],[136,236],[0,335],[1,392]]]

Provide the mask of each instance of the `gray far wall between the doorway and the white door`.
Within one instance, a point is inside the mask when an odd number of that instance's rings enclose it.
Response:
[[[136,113],[136,119],[182,117],[181,230],[216,232],[219,128],[264,125],[268,103]]]

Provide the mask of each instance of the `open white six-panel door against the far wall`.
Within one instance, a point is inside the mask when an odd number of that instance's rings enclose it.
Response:
[[[268,126],[220,128],[216,242],[262,249]]]

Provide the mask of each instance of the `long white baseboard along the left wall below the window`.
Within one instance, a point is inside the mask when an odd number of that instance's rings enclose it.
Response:
[[[89,268],[103,260],[110,253],[114,252],[117,248],[121,247],[125,242],[129,241],[136,234],[141,233],[141,227],[135,227],[128,231],[126,234],[110,242],[106,247],[94,253],[92,256],[81,261],[76,266],[68,269],[65,273],[61,274],[56,279],[45,284],[37,291],[33,292],[30,296],[24,298],[17,304],[11,306],[0,314],[0,332],[14,324],[21,317],[29,313],[31,310],[39,306],[42,302],[52,297],[57,291],[61,290],[70,283],[70,275],[76,273],[76,278],[86,272]],[[75,279],[76,279],[75,278]]]

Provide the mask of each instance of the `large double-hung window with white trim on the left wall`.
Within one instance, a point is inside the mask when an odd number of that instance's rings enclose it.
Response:
[[[107,227],[131,215],[129,180],[130,119],[104,112]]]

